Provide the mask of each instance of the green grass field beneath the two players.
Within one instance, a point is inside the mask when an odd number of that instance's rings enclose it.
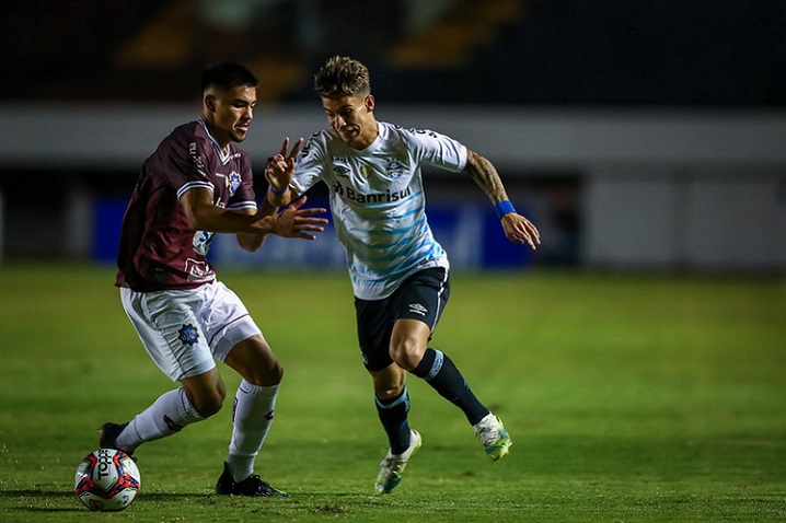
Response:
[[[490,463],[411,379],[424,446],[374,496],[386,443],[343,274],[227,272],[286,367],[257,472],[287,500],[218,497],[231,399],[137,452],[142,492],[72,490],[95,429],[169,382],[105,268],[0,266],[0,522],[765,522],[786,520],[786,282],[573,272],[454,275],[434,339],[505,420]],[[230,394],[238,380],[222,369]]]

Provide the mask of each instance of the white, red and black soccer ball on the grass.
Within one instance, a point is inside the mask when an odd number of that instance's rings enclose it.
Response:
[[[127,509],[139,493],[141,476],[131,456],[116,449],[91,452],[73,479],[79,500],[90,510]]]

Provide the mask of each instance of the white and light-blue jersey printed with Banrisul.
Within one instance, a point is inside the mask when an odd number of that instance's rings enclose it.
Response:
[[[313,135],[292,176],[299,194],[319,181],[330,187],[334,226],[362,300],[389,297],[416,270],[449,267],[426,220],[420,166],[460,172],[466,164],[466,148],[452,138],[378,124],[379,136],[362,151],[332,129]]]

